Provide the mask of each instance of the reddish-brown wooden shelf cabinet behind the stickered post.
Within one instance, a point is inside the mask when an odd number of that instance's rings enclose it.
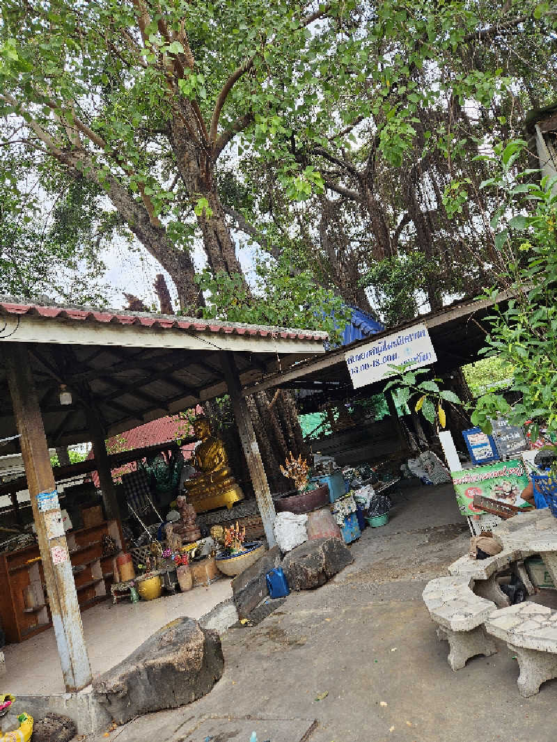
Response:
[[[102,536],[117,552],[102,555]],[[109,520],[66,533],[77,600],[82,611],[110,594],[112,559],[122,549],[120,525]],[[38,546],[0,554],[0,623],[8,642],[22,642],[52,626]]]

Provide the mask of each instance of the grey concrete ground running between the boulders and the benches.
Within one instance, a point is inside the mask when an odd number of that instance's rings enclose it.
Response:
[[[224,634],[224,676],[209,695],[108,738],[248,742],[255,730],[259,742],[553,742],[557,681],[526,700],[504,644],[455,673],[437,640],[421,592],[468,539],[452,485],[406,490],[391,522],[352,545],[351,567],[290,595],[259,626]]]

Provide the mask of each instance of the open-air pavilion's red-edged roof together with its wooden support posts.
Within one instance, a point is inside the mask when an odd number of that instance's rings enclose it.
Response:
[[[274,507],[242,387],[324,352],[326,334],[0,299],[0,440],[21,448],[49,609],[68,692],[91,682],[48,446],[92,441],[107,518],[117,500],[105,438],[228,393],[265,533]],[[60,393],[71,394],[61,404]],[[67,401],[67,399],[65,400]],[[39,497],[38,497],[39,496]],[[49,502],[48,510],[40,505]]]

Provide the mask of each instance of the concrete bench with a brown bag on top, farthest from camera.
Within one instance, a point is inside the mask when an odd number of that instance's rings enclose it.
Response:
[[[530,582],[530,577],[524,566],[524,559],[530,557],[532,551],[521,551],[520,549],[504,549],[494,557],[486,559],[472,559],[465,554],[449,566],[449,574],[471,577],[474,580],[475,594],[492,600],[498,608],[506,608],[510,605],[509,597],[504,594],[498,582],[498,573],[506,568],[516,574],[523,582],[529,595],[535,593],[535,588]]]

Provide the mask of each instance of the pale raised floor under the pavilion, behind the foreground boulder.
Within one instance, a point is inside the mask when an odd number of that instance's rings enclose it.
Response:
[[[82,613],[85,643],[93,675],[101,674],[121,662],[151,634],[180,616],[201,618],[222,600],[232,597],[230,578],[224,577],[208,588],[193,588],[187,593],[164,595],[158,600],[129,603],[110,598]],[[6,692],[14,695],[63,693],[62,669],[53,628],[20,644],[8,644],[6,657]]]

